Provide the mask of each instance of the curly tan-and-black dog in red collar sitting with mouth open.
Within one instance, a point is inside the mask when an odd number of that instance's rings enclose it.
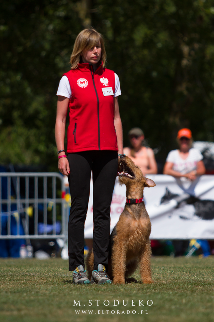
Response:
[[[124,284],[139,266],[143,283],[152,283],[150,267],[151,223],[145,209],[144,187],[154,187],[151,179],[143,176],[139,167],[127,156],[119,159],[118,175],[120,184],[126,185],[126,203],[118,223],[110,236],[108,275],[115,284]],[[88,278],[93,270],[93,250],[86,259]]]

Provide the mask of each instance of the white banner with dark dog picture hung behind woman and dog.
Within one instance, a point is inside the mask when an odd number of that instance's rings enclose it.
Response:
[[[144,188],[150,216],[150,239],[214,239],[214,175],[202,175],[190,182],[169,175],[147,175],[156,186]],[[93,237],[93,190],[85,222],[85,238]],[[116,179],[111,203],[111,231],[122,213],[126,187]],[[191,197],[192,196],[192,197]]]

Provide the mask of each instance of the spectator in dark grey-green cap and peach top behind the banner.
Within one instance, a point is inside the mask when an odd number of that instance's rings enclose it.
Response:
[[[158,172],[154,152],[149,147],[143,147],[143,131],[140,128],[132,128],[128,133],[131,148],[125,147],[124,153],[141,168],[143,175],[156,174]]]

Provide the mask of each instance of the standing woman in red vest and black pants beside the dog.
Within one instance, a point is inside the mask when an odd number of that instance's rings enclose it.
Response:
[[[59,170],[68,175],[71,210],[68,223],[69,270],[75,284],[90,284],[84,270],[84,223],[93,174],[94,270],[91,283],[111,283],[107,276],[110,204],[117,175],[118,153],[123,154],[122,123],[117,96],[118,76],[105,68],[103,37],[94,29],[78,34],[71,70],[57,91],[56,145]],[[67,157],[64,135],[67,109]]]

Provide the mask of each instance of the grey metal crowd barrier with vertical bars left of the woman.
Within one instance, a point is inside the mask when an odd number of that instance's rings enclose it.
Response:
[[[67,217],[62,175],[0,173],[0,239],[66,239]]]

